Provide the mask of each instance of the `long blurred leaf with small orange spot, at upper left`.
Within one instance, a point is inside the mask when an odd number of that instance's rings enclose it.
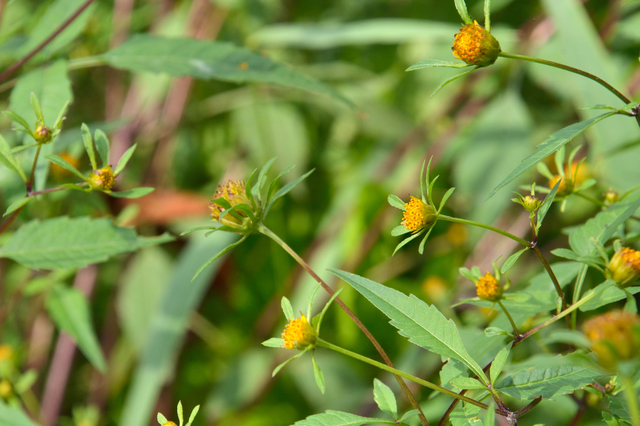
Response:
[[[276,84],[328,94],[351,105],[326,84],[228,42],[136,35],[105,53],[103,58],[109,65],[129,71]]]

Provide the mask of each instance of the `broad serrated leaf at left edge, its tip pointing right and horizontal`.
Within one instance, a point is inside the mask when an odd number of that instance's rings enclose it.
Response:
[[[173,240],[169,235],[139,237],[110,219],[57,217],[33,220],[16,231],[0,250],[34,269],[68,269],[106,261],[109,257]]]

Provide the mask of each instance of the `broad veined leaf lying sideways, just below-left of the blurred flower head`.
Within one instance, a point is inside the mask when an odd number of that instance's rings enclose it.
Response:
[[[520,400],[539,396],[553,399],[581,389],[606,375],[578,356],[558,356],[555,361],[556,365],[535,366],[518,371],[505,377],[495,388]]]

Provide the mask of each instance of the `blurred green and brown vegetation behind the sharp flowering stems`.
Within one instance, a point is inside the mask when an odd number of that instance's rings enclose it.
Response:
[[[0,1],[0,69],[10,69],[83,3]],[[468,6],[473,16],[482,16],[481,1]],[[637,99],[640,2],[494,0],[492,23],[505,50],[579,67]],[[525,236],[528,213],[510,201],[510,191],[533,180],[546,186],[546,178],[531,171],[491,200],[485,198],[548,134],[596,115],[579,107],[615,98],[591,81],[508,59],[431,98],[456,71],[404,70],[426,58],[452,59],[459,28],[453,2],[442,0],[96,0],[19,70],[3,75],[0,109],[29,117],[32,124],[31,92],[40,98],[47,120],[71,100],[63,132],[47,146],[48,153],[65,153],[87,170],[80,138],[80,125],[87,123],[109,135],[114,165],[138,144],[118,190],[156,190],[137,200],[99,192],[52,193],[30,202],[0,242],[30,220],[55,216],[114,217],[140,235],[175,236],[209,223],[207,203],[218,183],[245,179],[277,157],[273,169],[278,172],[296,165],[285,183],[309,169],[315,172],[274,207],[269,227],[334,288],[341,284],[324,272],[327,268],[351,271],[435,304],[454,318],[471,355],[484,365],[501,342],[495,339],[495,347],[474,342],[487,325],[496,325],[495,315],[471,305],[451,308],[474,295],[473,284],[458,268],[491,270],[491,262],[515,251],[516,243],[442,222],[424,255],[417,253],[416,243],[391,257],[399,238],[390,231],[401,217],[387,195],[417,195],[420,167],[433,156],[441,175],[434,198],[457,188],[447,214]],[[162,56],[160,43],[137,47],[128,56],[114,53],[136,34],[230,42],[286,65],[270,79],[253,81],[220,79],[206,70],[177,77],[185,74],[181,64],[150,59]],[[110,53],[99,56],[105,52]],[[247,58],[235,71],[243,71],[244,63],[252,71],[257,59]],[[303,76],[309,79],[300,80]],[[22,137],[10,125],[0,118],[2,135],[15,146]],[[571,147],[584,145],[579,154],[587,158],[584,173],[598,179],[593,196],[608,187],[625,191],[638,185],[640,139],[634,125],[613,117],[572,142]],[[74,181],[55,168],[48,178],[46,170],[38,176],[40,189]],[[3,210],[24,196],[23,183],[6,167],[0,167],[0,187]],[[563,230],[598,210],[578,197],[568,200],[563,214],[554,206],[542,228],[542,251],[565,246]],[[33,270],[0,259],[0,343],[11,348],[17,371],[37,373],[20,399],[26,411],[44,425],[77,426],[154,424],[157,411],[175,420],[178,400],[187,411],[202,405],[194,425],[289,425],[325,409],[375,416],[372,381],[377,377],[394,388],[393,378],[332,353],[317,354],[326,377],[324,395],[308,362],[294,362],[271,378],[289,354],[260,342],[281,333],[281,297],[304,311],[314,282],[270,240],[250,237],[191,282],[200,265],[233,238],[190,234],[77,271]],[[510,278],[524,287],[532,279],[548,281],[541,272],[537,259],[525,254]],[[587,286],[595,280],[588,278]],[[75,345],[54,327],[43,289],[55,283],[88,297],[107,361],[105,374],[82,353],[74,357]],[[399,368],[439,382],[439,356],[409,345],[351,288],[341,298]],[[377,357],[344,313],[331,309],[325,321],[325,338]],[[544,353],[546,337],[527,341],[519,353],[526,358]],[[426,400],[419,389],[416,394]],[[406,400],[399,401],[408,407]],[[437,396],[425,414],[437,421],[449,403]],[[544,406],[522,424],[565,425],[579,405],[561,396],[543,401]],[[602,422],[599,411],[593,412],[598,414],[586,415],[582,424]]]

